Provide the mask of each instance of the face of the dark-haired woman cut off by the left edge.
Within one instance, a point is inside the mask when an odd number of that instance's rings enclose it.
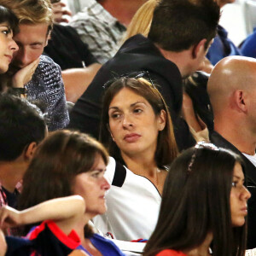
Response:
[[[13,32],[9,25],[0,23],[0,73],[7,72],[9,63],[13,59],[13,54],[19,47],[13,40]]]

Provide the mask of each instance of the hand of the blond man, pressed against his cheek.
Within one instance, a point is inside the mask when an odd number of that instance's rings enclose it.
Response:
[[[15,88],[22,88],[24,85],[32,79],[32,75],[35,73],[38,67],[39,58],[36,61],[28,64],[26,67],[22,67],[17,73],[15,73],[12,84]]]

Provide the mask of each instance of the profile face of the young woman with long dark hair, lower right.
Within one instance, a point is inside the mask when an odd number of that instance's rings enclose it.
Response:
[[[245,223],[245,217],[247,216],[247,200],[251,197],[250,192],[243,183],[244,175],[241,165],[236,162],[230,192],[231,222],[234,227],[240,227]]]

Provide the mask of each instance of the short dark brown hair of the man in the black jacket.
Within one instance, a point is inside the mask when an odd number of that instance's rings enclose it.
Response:
[[[148,38],[161,49],[179,52],[215,37],[219,7],[213,0],[161,0],[154,9]]]

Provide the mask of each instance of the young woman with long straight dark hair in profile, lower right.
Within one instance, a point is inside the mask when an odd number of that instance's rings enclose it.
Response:
[[[178,156],[144,255],[244,255],[251,195],[242,170],[238,155],[212,144],[198,143]]]

